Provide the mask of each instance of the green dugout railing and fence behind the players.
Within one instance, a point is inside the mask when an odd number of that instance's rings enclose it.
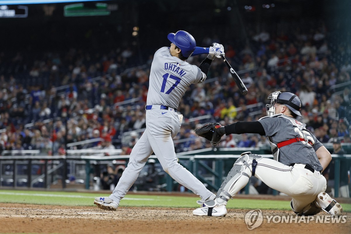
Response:
[[[247,149],[247,148],[246,148]],[[252,148],[253,149],[253,148]],[[203,151],[204,152],[204,151]],[[225,151],[224,151],[225,152]],[[244,151],[241,151],[244,152]],[[198,153],[201,153],[198,151]],[[265,158],[272,158],[271,154],[260,154]],[[212,155],[177,155],[179,163],[183,165],[188,171],[196,176],[201,182],[207,185],[210,190],[217,191],[230,171],[233,163],[240,157],[239,154],[212,154]],[[341,161],[350,161],[351,154],[345,155],[332,155],[335,160],[335,172],[340,171]],[[151,155],[150,159],[157,161],[155,155]],[[67,175],[73,171],[73,168],[68,168],[71,161],[74,161],[74,165],[80,165],[85,167],[85,178],[84,184],[86,189],[92,189],[93,185],[93,173],[94,166],[97,163],[104,162],[104,164],[112,163],[115,161],[127,162],[129,155],[119,156],[96,156],[96,155],[62,155],[62,156],[33,156],[33,155],[22,155],[22,156],[0,156],[0,187],[11,186],[11,187],[22,187],[23,181],[27,181],[26,186],[28,188],[37,187],[35,184],[38,182],[43,183],[43,188],[51,187],[54,182],[54,177],[60,178],[62,181],[62,189],[66,188]],[[12,166],[12,170],[6,171],[4,166]],[[42,168],[41,173],[33,174],[34,165],[40,165]],[[26,170],[20,169],[20,166],[25,166]],[[19,170],[24,170],[25,173],[20,173]],[[5,173],[7,172],[7,173]],[[72,173],[71,173],[72,174]],[[12,183],[4,183],[12,181]],[[165,177],[165,190],[168,192],[173,191],[174,184],[176,183],[171,176],[166,174]],[[22,185],[21,185],[22,183]],[[335,197],[339,196],[340,186],[340,174],[335,173]],[[249,183],[245,187],[245,194],[249,194]],[[273,195],[277,195],[277,192],[273,190]]]

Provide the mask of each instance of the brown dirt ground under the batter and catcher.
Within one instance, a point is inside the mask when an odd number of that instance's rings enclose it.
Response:
[[[120,207],[116,212],[97,207],[38,206],[0,203],[1,233],[350,233],[345,223],[267,223],[266,215],[294,215],[262,210],[261,226],[249,230],[248,210],[230,209],[225,217],[194,216],[189,208]],[[319,215],[325,215],[319,214]],[[316,220],[316,216],[314,216]]]

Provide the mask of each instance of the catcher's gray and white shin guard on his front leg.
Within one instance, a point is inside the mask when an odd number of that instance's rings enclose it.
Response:
[[[249,178],[254,172],[253,168],[256,168],[257,161],[261,158],[262,156],[251,154],[251,152],[242,153],[218,190],[216,198],[219,199],[216,200],[223,200],[222,202],[226,203],[237,194],[249,182]]]

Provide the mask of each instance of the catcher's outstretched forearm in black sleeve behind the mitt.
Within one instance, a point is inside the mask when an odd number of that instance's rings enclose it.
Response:
[[[226,134],[243,134],[243,133],[258,133],[261,136],[266,135],[262,124],[258,121],[242,122],[238,121],[225,126]]]

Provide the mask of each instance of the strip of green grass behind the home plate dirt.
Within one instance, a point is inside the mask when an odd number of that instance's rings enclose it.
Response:
[[[94,198],[108,196],[99,193],[52,192],[28,190],[0,190],[0,202],[26,203],[58,206],[95,206]],[[197,208],[196,197],[159,196],[159,195],[126,195],[120,206],[130,207],[183,207]],[[345,212],[351,212],[351,204],[342,203]],[[290,210],[289,201],[236,199],[228,202],[229,209],[271,209]]]

